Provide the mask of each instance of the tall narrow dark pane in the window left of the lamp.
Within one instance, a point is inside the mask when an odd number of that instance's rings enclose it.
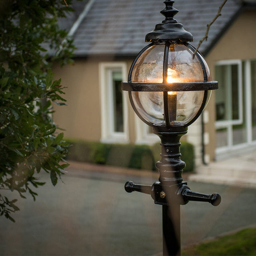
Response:
[[[123,100],[122,100],[122,72],[112,72],[114,132],[124,132]]]

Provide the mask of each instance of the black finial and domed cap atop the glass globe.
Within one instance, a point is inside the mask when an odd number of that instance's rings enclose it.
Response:
[[[164,4],[166,7],[161,14],[165,16],[165,20],[156,24],[155,29],[146,34],[146,42],[154,42],[154,44],[164,44],[166,41],[192,42],[192,34],[184,30],[183,25],[173,18],[179,12],[172,6],[174,1],[165,0]]]

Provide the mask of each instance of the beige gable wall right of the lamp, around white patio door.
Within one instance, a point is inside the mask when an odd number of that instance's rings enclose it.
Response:
[[[211,52],[206,56],[206,62],[214,79],[214,65],[219,60],[256,59],[256,11],[242,13],[226,33],[218,40]],[[211,31],[210,31],[211,32]],[[215,99],[214,92],[207,106],[209,123],[206,130],[210,134],[210,143],[206,146],[207,154],[214,159],[215,142]]]

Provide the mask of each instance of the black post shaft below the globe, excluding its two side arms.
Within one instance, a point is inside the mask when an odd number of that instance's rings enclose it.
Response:
[[[163,255],[180,255],[180,204],[183,198],[176,191],[186,183],[182,180],[183,168],[186,164],[180,159],[180,138],[186,134],[187,128],[177,127],[170,132],[165,129],[154,129],[161,139],[161,160],[156,163],[160,173],[161,192],[155,186],[155,203],[162,204]],[[159,196],[158,196],[159,195]],[[160,197],[160,198],[158,198]],[[166,203],[163,203],[165,199]]]

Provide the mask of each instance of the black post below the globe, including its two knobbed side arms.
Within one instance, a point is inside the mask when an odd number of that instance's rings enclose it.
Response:
[[[156,163],[159,181],[152,186],[125,184],[126,192],[138,191],[151,194],[155,204],[162,205],[163,255],[180,256],[180,205],[188,201],[209,202],[213,206],[220,204],[218,193],[211,195],[193,192],[182,179],[186,164],[180,159],[180,138],[187,128],[173,126],[171,129],[155,127],[154,133],[161,139],[161,160]]]

